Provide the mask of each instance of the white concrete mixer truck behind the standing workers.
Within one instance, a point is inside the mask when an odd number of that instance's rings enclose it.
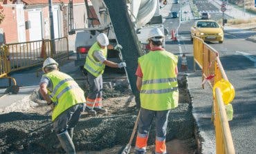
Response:
[[[77,60],[75,66],[84,66],[85,57],[89,48],[95,43],[96,37],[100,32],[104,32],[110,42],[107,59],[115,62],[120,61],[120,53],[114,47],[117,44],[116,35],[111,23],[111,17],[108,12],[104,0],[85,0],[86,6],[86,28],[74,28],[73,23],[73,1],[69,1],[69,34],[76,33],[75,52]],[[127,0],[127,10],[129,17],[134,24],[134,30],[138,37],[141,47],[147,50],[147,36],[152,28],[160,28],[165,32],[163,27],[163,17],[161,16],[161,5],[165,5],[166,1],[162,0]],[[120,27],[122,28],[122,27]],[[165,44],[163,45],[165,46]]]

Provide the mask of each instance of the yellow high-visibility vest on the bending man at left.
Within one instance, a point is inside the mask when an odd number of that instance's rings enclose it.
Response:
[[[48,90],[51,100],[55,102],[52,120],[75,104],[85,103],[84,91],[72,77],[58,70],[45,74],[53,83],[53,90]]]

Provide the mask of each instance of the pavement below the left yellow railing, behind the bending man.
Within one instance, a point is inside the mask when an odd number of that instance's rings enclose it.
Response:
[[[83,75],[78,67],[74,64],[75,55],[70,57],[63,66],[60,66],[60,70],[64,73],[68,73],[71,77],[82,78]],[[39,76],[37,77],[37,70],[39,70]],[[78,74],[80,73],[80,74]],[[0,98],[0,114],[6,112],[17,112],[19,106],[24,106],[26,102],[30,101],[30,95],[39,90],[39,81],[43,75],[41,68],[30,68],[26,71],[20,71],[12,73],[12,77],[15,77],[17,86],[19,86],[18,94],[10,94]],[[0,84],[3,80],[0,80]],[[0,89],[0,94],[5,92],[6,88]]]

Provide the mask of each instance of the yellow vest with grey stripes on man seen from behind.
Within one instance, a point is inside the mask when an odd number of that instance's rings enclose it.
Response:
[[[165,50],[138,58],[143,73],[140,106],[148,110],[169,110],[178,106],[179,89],[175,68],[178,57]]]

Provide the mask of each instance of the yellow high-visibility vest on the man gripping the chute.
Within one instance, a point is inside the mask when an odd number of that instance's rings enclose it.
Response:
[[[100,61],[95,61],[93,57],[93,52],[95,50],[101,51],[104,57],[107,57],[107,47],[104,49],[100,48],[98,42],[95,42],[93,46],[91,46],[88,55],[86,57],[86,61],[84,64],[84,68],[91,73],[93,76],[98,77],[104,73],[105,64],[100,63]]]

